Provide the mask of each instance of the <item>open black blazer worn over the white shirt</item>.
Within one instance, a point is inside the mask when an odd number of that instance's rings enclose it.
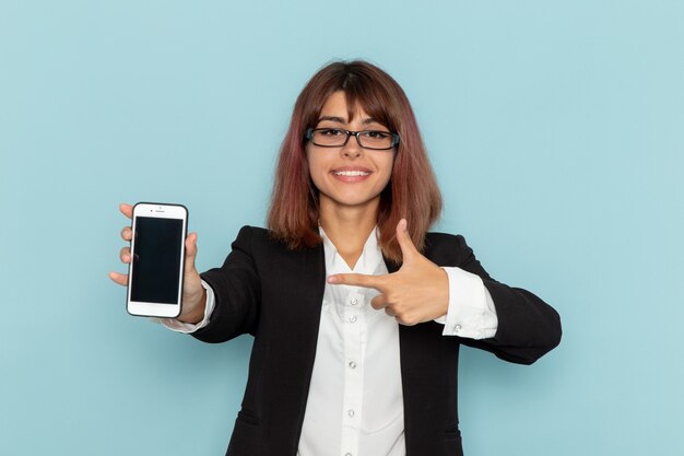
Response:
[[[441,335],[434,321],[399,326],[406,456],[462,455],[458,428],[460,344],[530,364],[561,340],[558,314],[532,293],[493,280],[462,236],[431,233],[424,255],[476,273],[492,294],[496,336]],[[398,265],[387,262],[390,272]],[[245,226],[221,268],[202,274],[215,293],[210,324],[193,334],[223,342],[255,337],[249,377],[228,456],[295,456],[316,355],[326,284],[323,247],[290,250],[263,229]],[[374,456],[374,455],[370,455]]]

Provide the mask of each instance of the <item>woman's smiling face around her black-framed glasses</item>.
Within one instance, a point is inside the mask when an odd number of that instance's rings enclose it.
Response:
[[[354,113],[353,119],[349,119],[344,92],[334,92],[323,105],[315,128],[389,131],[362,107],[356,106]],[[364,149],[352,136],[340,148],[322,148],[309,141],[306,152],[309,174],[320,191],[321,209],[325,204],[333,204],[337,209],[377,207],[380,192],[392,174],[393,149]]]

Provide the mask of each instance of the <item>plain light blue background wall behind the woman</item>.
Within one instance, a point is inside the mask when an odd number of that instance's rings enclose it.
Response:
[[[0,1],[0,454],[221,455],[249,338],[125,311],[120,201],[173,201],[198,267],[262,225],[307,79],[392,74],[437,229],[563,316],[532,366],[464,349],[468,456],[684,454],[684,3]]]

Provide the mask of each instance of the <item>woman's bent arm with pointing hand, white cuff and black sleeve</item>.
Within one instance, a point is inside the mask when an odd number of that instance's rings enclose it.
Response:
[[[480,331],[487,329],[487,324],[470,328],[461,325],[462,329],[468,329],[461,336],[469,338],[455,339],[463,344],[487,350],[503,360],[521,364],[533,363],[559,343],[558,314],[532,293],[492,279],[465,244],[463,236],[431,233],[425,239],[425,252],[420,253],[408,234],[406,221],[402,219],[397,225],[397,241],[401,246],[403,262],[396,272],[384,276],[333,274],[328,277],[328,283],[378,290],[380,294],[373,299],[370,305],[408,326],[431,321],[448,314],[450,304],[476,304],[472,302],[473,296],[468,296],[470,293],[480,293],[477,300],[481,302],[480,307],[484,308],[487,304],[486,289],[494,303],[492,314],[498,320],[493,337],[487,338],[491,332]],[[464,273],[477,276],[471,278],[482,281],[484,288],[477,283],[475,287],[468,287],[470,292],[465,288],[456,292],[450,290],[448,272],[440,268],[445,266],[457,267],[465,271]],[[471,302],[467,302],[469,300]],[[461,313],[468,314],[472,316],[471,312]],[[447,315],[447,320],[449,318]],[[453,325],[452,329],[457,328],[458,324]],[[494,329],[494,326],[488,329]],[[473,334],[477,331],[481,334]],[[485,339],[473,340],[471,337]]]

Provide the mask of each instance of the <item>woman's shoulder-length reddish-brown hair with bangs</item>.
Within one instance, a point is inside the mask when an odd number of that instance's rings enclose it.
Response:
[[[406,95],[389,74],[366,61],[323,67],[297,97],[280,150],[268,227],[275,238],[293,249],[321,242],[318,189],[309,176],[305,132],[316,127],[323,104],[337,91],[343,91],[346,96],[350,119],[354,108],[362,106],[372,118],[401,138],[392,176],[380,195],[377,222],[382,254],[401,264],[397,224],[406,219],[411,238],[422,250],[425,233],[441,211],[441,196]]]

